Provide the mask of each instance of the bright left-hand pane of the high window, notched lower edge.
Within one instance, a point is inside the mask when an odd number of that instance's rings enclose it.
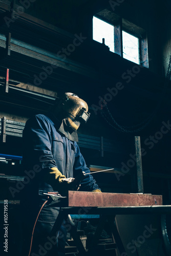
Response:
[[[104,38],[104,43],[114,52],[114,26],[103,20],[93,17],[93,40],[101,42]]]

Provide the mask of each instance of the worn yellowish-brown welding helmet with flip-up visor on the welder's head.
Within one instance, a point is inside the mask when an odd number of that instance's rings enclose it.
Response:
[[[62,98],[62,111],[66,116],[66,124],[73,131],[77,131],[80,123],[89,119],[88,104],[76,94],[65,93]]]

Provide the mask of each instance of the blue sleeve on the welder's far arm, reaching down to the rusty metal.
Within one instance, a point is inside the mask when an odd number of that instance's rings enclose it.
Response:
[[[80,153],[79,146],[75,142],[75,161],[74,161],[74,177],[76,177],[80,172],[90,173],[89,168],[86,165],[86,162],[83,158],[83,156]],[[96,181],[93,179],[93,176],[86,175],[85,178],[81,181],[80,191],[92,191],[95,189],[100,189],[96,183]]]

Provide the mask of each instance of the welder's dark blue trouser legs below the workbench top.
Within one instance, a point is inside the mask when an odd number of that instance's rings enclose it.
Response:
[[[42,203],[42,202],[41,202]],[[39,207],[40,208],[40,207]],[[29,210],[29,209],[28,209]],[[34,210],[34,209],[32,209]],[[65,255],[65,243],[67,230],[65,221],[61,221],[57,230],[53,229],[56,218],[59,215],[59,207],[43,207],[37,219],[33,238],[32,231],[36,221],[36,215],[26,213],[27,218],[23,222],[23,255],[28,256],[63,256]],[[29,212],[31,212],[29,210]],[[37,212],[37,211],[36,211]],[[37,213],[38,214],[38,213]],[[33,218],[34,216],[34,218]],[[52,233],[53,231],[53,233]],[[31,246],[32,242],[32,246]]]

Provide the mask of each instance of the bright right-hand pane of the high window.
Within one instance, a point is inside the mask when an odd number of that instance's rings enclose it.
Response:
[[[139,64],[139,39],[122,31],[123,58]]]

